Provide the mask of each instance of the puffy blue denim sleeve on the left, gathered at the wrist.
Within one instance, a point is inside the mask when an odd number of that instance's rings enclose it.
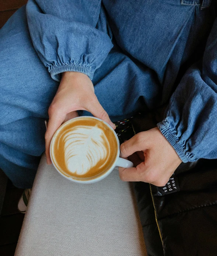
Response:
[[[113,47],[96,28],[101,0],[29,0],[27,19],[32,43],[51,77],[76,71],[92,79]]]

